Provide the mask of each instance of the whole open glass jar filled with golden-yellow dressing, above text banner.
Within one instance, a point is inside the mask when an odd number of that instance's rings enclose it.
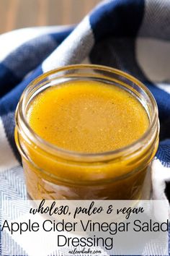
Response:
[[[139,199],[158,132],[154,98],[134,77],[97,65],[43,74],[16,111],[27,192],[33,199]]]

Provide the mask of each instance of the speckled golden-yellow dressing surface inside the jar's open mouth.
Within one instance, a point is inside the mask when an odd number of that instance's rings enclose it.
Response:
[[[37,95],[27,112],[44,140],[82,153],[125,147],[148,128],[148,114],[130,93],[102,82],[76,81]]]

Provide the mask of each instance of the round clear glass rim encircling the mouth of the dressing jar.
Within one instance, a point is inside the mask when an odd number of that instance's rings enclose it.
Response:
[[[118,148],[116,150],[109,150],[99,153],[81,153],[76,152],[73,150],[66,150],[64,148],[59,148],[57,145],[54,145],[37,135],[37,133],[30,127],[30,124],[28,123],[26,119],[26,115],[24,114],[24,101],[25,97],[27,96],[27,93],[29,93],[29,90],[34,88],[35,85],[37,85],[37,82],[40,82],[41,80],[45,79],[45,77],[53,76],[56,73],[59,72],[66,72],[71,69],[97,69],[99,71],[109,72],[110,74],[117,74],[121,77],[124,77],[131,82],[135,82],[136,85],[138,85],[148,96],[148,98],[151,101],[151,106],[153,107],[153,116],[151,116],[151,120],[148,126],[148,129],[146,132],[143,133],[143,135],[138,138],[138,140],[135,140],[135,142],[130,143],[129,145]],[[144,144],[144,142],[148,140],[149,135],[151,135],[151,132],[153,129],[156,129],[156,124],[158,123],[158,107],[156,104],[156,100],[153,97],[152,93],[148,88],[146,88],[145,85],[143,85],[142,82],[140,82],[138,79],[133,77],[132,75],[122,72],[119,69],[115,69],[112,67],[106,67],[103,65],[97,65],[97,64],[73,64],[68,65],[64,67],[60,67],[58,69],[53,69],[49,72],[45,72],[44,74],[41,74],[39,77],[37,77],[35,80],[32,80],[29,85],[27,85],[27,88],[24,89],[24,92],[22,93],[22,96],[19,100],[19,103],[17,105],[16,115],[16,126],[20,129],[22,127],[22,131],[24,131],[24,134],[27,134],[27,137],[31,140],[31,142],[35,143],[38,147],[40,147],[42,150],[52,154],[57,155],[59,157],[63,158],[71,158],[74,161],[79,161],[79,159],[84,161],[101,161],[106,160],[106,158],[118,158],[120,155],[130,155],[131,153],[137,151],[139,148],[141,148]]]

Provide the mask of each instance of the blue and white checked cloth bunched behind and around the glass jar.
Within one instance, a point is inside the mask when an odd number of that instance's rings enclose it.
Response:
[[[14,111],[22,91],[38,75],[84,59],[122,69],[153,93],[161,142],[151,166],[152,197],[170,199],[169,0],[103,1],[76,27],[32,27],[0,35],[1,198],[26,198],[14,143]]]

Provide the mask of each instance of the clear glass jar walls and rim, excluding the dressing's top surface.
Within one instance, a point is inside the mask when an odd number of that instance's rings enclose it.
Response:
[[[31,129],[27,109],[36,95],[69,80],[94,80],[127,90],[143,104],[147,131],[131,145],[104,153],[76,153],[43,140]],[[71,65],[37,77],[24,90],[16,111],[15,140],[22,156],[28,195],[34,200],[138,200],[158,148],[158,108],[134,77],[98,65]]]

